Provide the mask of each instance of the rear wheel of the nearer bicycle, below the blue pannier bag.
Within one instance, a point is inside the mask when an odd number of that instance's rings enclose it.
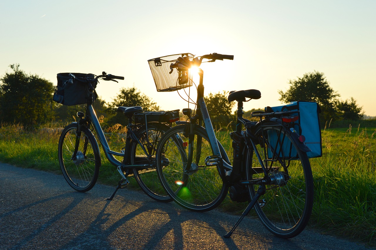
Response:
[[[289,132],[284,133],[282,130],[279,137],[276,136],[279,130],[280,127],[276,127],[275,123],[263,122],[262,127],[255,132],[255,136],[260,139],[259,141],[265,139],[266,143],[261,142],[256,147],[264,162],[266,162],[265,159],[273,158],[274,148],[277,151],[281,149],[281,153],[274,155],[277,161],[272,164],[268,161],[267,171],[269,176],[274,175],[274,177],[286,174],[287,180],[279,184],[266,185],[265,194],[261,196],[259,202],[256,202],[254,208],[262,224],[271,233],[281,238],[293,238],[302,232],[311,216],[314,198],[313,177],[307,154],[299,150]],[[277,143],[282,146],[274,146]],[[260,171],[261,165],[253,151],[253,148],[249,148],[246,157],[247,179],[249,180],[264,177],[264,173]],[[254,197],[257,189],[256,185],[249,185],[251,198]]]

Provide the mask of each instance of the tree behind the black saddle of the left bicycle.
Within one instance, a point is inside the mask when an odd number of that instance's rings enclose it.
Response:
[[[159,106],[152,101],[147,95],[138,91],[137,88],[122,88],[120,94],[118,94],[111,103],[109,103],[109,108],[106,109],[106,113],[111,115],[109,118],[109,124],[114,123],[124,123],[124,115],[116,111],[117,107],[125,106],[141,106],[143,110],[147,111],[157,111]]]

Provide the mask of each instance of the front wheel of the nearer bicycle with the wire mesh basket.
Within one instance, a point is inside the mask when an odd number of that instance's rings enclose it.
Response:
[[[202,138],[200,155],[197,144],[193,150],[194,163],[191,171],[184,172],[188,161],[188,135],[184,136],[185,125],[168,130],[158,144],[157,173],[166,192],[185,209],[206,212],[216,208],[227,195],[228,187],[223,183],[218,166],[208,167],[204,160],[214,155],[208,135],[203,127],[195,126],[193,135]],[[221,154],[225,154],[222,152]]]

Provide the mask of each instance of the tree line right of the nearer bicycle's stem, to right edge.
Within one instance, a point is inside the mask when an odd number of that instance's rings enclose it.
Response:
[[[296,80],[289,80],[288,85],[290,87],[286,91],[278,91],[281,105],[299,100],[317,102],[322,111],[319,116],[323,126],[330,121],[358,121],[363,118],[364,112],[362,107],[359,107],[356,103],[356,100],[353,97],[341,100],[340,94],[331,88],[324,73],[309,72]],[[229,123],[236,119],[236,115],[231,114],[235,103],[228,103],[227,95],[228,92],[210,93],[205,99],[214,127],[227,127]],[[243,117],[254,120],[251,117],[253,111],[264,111],[264,109],[244,111]],[[234,124],[232,124],[232,127],[234,127]]]

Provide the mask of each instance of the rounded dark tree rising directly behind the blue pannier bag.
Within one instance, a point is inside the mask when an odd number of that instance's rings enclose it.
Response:
[[[290,80],[288,84],[290,84],[290,88],[286,92],[278,91],[281,96],[280,101],[286,103],[298,100],[317,102],[322,111],[321,121],[338,118],[336,107],[338,105],[337,98],[340,95],[329,86],[324,73],[309,72],[301,78],[298,77],[297,80]]]

